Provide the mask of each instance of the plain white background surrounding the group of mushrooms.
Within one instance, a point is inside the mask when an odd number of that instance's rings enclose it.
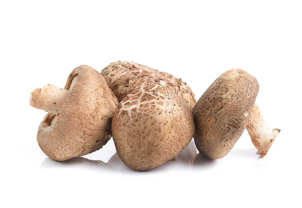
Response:
[[[0,206],[301,207],[301,11],[299,1],[1,1]],[[29,106],[30,92],[117,60],[182,78],[196,99],[242,68],[281,133],[265,158],[245,131],[223,159],[194,158],[191,144],[145,172],[125,167],[112,140],[68,162],[47,158],[36,142],[45,112]]]

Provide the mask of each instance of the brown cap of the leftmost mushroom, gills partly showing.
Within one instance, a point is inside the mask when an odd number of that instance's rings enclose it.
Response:
[[[70,90],[59,114],[48,113],[37,141],[51,159],[68,160],[102,148],[111,138],[110,124],[118,101],[103,76],[87,65],[70,73]]]

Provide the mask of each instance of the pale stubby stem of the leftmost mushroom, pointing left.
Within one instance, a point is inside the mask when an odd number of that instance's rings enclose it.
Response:
[[[44,88],[36,88],[31,92],[29,104],[46,112],[58,114],[69,95],[70,90],[48,84]]]

